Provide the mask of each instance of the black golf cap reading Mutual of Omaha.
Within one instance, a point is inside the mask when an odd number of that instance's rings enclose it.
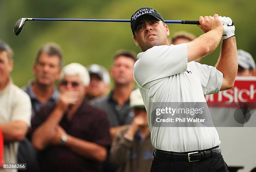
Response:
[[[156,17],[157,20],[162,20],[164,22],[164,19],[161,16],[161,14],[157,12],[154,8],[142,7],[138,9],[136,12],[134,12],[134,14],[131,16],[131,30],[133,31],[133,35],[134,31],[136,30],[138,19],[143,15],[152,15]]]

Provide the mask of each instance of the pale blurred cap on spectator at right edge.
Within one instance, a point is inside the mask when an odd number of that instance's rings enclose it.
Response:
[[[255,62],[250,53],[244,50],[237,50],[238,55],[238,65],[244,69],[253,68],[255,69]]]

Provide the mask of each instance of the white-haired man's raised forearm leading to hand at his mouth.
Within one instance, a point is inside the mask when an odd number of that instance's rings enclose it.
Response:
[[[56,107],[47,120],[40,125],[32,135],[33,146],[38,150],[44,149],[55,135],[55,127],[63,116],[63,110]]]

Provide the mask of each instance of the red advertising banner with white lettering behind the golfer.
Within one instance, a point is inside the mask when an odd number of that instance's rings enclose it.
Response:
[[[232,89],[206,95],[205,99],[209,107],[241,107],[245,102],[256,107],[256,77],[236,77]]]

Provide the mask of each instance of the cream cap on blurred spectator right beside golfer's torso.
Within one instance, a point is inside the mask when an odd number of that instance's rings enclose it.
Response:
[[[141,92],[139,89],[133,90],[130,95],[130,106],[132,108],[145,108],[145,105],[143,103],[143,99],[141,96]]]

